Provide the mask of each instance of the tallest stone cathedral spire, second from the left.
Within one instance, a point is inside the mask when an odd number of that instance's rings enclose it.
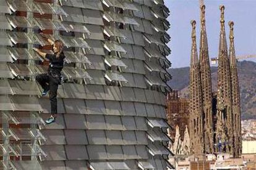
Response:
[[[212,153],[213,144],[213,114],[212,114],[212,96],[211,96],[211,70],[208,54],[208,41],[205,28],[205,5],[201,6],[201,33],[200,33],[200,78],[202,83],[203,99],[203,128],[205,140],[205,152]]]

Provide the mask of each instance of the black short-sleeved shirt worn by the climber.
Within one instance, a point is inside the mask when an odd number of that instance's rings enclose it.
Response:
[[[49,60],[48,71],[53,71],[53,73],[61,74],[61,70],[64,65],[65,55],[63,52],[57,58],[56,54],[46,54],[46,59]]]

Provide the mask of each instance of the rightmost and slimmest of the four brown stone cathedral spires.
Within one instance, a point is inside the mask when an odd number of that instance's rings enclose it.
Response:
[[[242,140],[241,140],[241,108],[239,95],[239,81],[237,76],[236,66],[236,52],[234,48],[234,22],[229,22],[229,59],[230,59],[230,73],[232,84],[232,103],[233,103],[233,127],[234,127],[234,157],[241,155]]]

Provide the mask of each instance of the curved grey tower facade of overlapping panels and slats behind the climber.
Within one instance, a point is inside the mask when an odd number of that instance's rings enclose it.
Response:
[[[0,9],[0,169],[171,168],[163,0],[6,0]],[[35,81],[48,62],[32,49],[52,52],[45,36],[66,55],[50,125]]]

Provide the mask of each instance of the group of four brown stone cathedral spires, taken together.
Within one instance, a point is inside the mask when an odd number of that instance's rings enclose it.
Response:
[[[189,136],[190,153],[230,153],[241,156],[241,108],[234,49],[233,22],[229,22],[229,51],[221,10],[218,55],[218,92],[213,95],[205,28],[205,6],[201,6],[200,49],[197,53],[195,21],[192,21],[190,57]]]

